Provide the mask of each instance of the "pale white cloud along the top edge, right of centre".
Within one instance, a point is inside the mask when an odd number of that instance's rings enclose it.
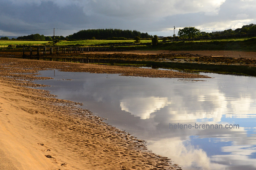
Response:
[[[191,12],[217,14],[225,0],[112,0],[83,1],[86,15],[101,14],[111,17],[166,17]],[[81,4],[83,5],[83,4]]]

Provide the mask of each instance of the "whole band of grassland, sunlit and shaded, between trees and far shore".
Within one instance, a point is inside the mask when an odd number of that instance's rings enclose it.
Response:
[[[150,43],[151,40],[141,40],[141,43]],[[161,40],[157,46],[134,44],[134,40],[79,40],[79,41],[60,41],[55,46],[101,46],[106,45],[113,50],[171,50],[171,51],[189,51],[189,50],[236,50],[236,51],[256,51],[256,38],[239,39],[219,39],[202,41],[180,41],[166,42]],[[130,46],[122,46],[130,44]],[[16,41],[1,40],[0,48],[8,45],[46,45],[52,46],[52,41]],[[116,46],[118,45],[118,46]],[[6,49],[8,50],[8,49]]]

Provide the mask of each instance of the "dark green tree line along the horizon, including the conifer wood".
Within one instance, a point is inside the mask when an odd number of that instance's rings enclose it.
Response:
[[[178,36],[175,34],[173,37],[175,39],[194,39],[194,38],[217,38],[222,36],[241,36],[241,35],[255,35],[256,36],[256,24],[244,25],[242,28],[237,28],[235,30],[228,29],[224,31],[217,32],[201,32],[195,27],[184,27],[179,29]],[[153,36],[149,35],[147,32],[139,32],[136,30],[120,30],[120,29],[89,29],[76,32],[67,37],[54,36],[55,40],[73,40],[73,39],[134,39],[139,37],[140,39],[152,39]],[[173,39],[172,36],[164,37],[164,40]],[[2,37],[1,39],[7,39],[8,37]],[[53,36],[44,36],[40,34],[31,34],[27,36],[20,36],[17,39],[28,39],[28,40],[53,40]],[[138,41],[137,41],[138,42]]]

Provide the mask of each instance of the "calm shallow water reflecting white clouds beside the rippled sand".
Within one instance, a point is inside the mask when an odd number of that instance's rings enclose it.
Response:
[[[146,140],[149,150],[182,169],[256,169],[254,77],[204,74],[214,78],[181,80],[41,73],[54,78],[36,81],[51,85],[41,89],[84,103],[82,108]]]

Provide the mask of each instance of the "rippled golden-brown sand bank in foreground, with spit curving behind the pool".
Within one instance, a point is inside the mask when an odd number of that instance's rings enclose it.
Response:
[[[0,169],[180,169],[169,159],[148,152],[144,141],[78,108],[81,103],[30,88],[41,86],[31,80],[47,79],[35,77],[45,68],[207,78],[154,69],[0,58]]]

